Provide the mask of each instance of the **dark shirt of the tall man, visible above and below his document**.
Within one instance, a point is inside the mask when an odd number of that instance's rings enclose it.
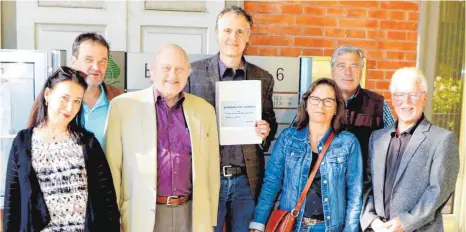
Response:
[[[240,69],[232,69],[225,66],[225,64],[218,58],[218,70],[221,81],[241,81],[246,79],[246,60],[242,58],[243,67]],[[241,145],[228,145],[220,147],[220,166],[233,165],[245,166],[243,150]]]

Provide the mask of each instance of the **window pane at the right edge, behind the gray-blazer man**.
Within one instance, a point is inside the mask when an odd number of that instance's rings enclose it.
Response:
[[[459,140],[464,81],[465,2],[440,3],[432,123],[456,133]],[[452,196],[443,213],[453,213]]]

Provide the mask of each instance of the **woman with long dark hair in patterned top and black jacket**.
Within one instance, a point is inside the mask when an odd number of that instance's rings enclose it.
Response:
[[[112,176],[99,142],[81,125],[86,74],[60,67],[46,81],[29,127],[11,147],[5,232],[119,231]]]

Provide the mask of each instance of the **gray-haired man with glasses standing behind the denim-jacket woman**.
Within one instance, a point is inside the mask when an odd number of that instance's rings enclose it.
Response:
[[[377,129],[391,127],[395,120],[384,97],[360,85],[364,68],[361,49],[348,45],[339,47],[330,65],[332,78],[345,99],[342,125],[358,138],[366,171],[369,136]],[[366,178],[364,183],[368,183]]]

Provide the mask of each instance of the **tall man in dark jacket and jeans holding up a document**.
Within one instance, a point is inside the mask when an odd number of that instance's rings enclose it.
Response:
[[[243,52],[251,36],[252,18],[237,6],[225,8],[217,16],[216,34],[220,52],[194,62],[187,92],[215,106],[217,81],[260,80],[262,120],[256,122],[260,145],[231,145],[220,149],[221,188],[215,231],[221,231],[226,215],[231,215],[231,230],[247,232],[254,215],[255,200],[264,178],[264,150],[277,131],[273,111],[273,78],[270,73],[246,61]],[[238,94],[240,94],[238,92]]]

